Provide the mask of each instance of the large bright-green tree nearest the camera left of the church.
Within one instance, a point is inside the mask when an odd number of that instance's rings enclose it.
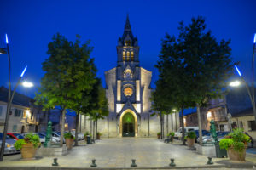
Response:
[[[61,107],[61,146],[66,110],[75,108],[78,101],[86,103],[82,92],[90,93],[95,83],[96,68],[88,45],[89,42],[80,45],[79,37],[76,42],[69,42],[57,33],[48,44],[49,58],[42,64],[45,74],[35,99],[44,109]]]

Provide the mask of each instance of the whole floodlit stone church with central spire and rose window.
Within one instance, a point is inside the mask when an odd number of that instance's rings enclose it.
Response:
[[[155,137],[160,132],[160,116],[150,116],[152,72],[140,66],[140,47],[128,16],[116,49],[117,66],[105,71],[109,116],[97,122],[97,131],[103,137]],[[178,113],[165,117],[165,132],[175,131],[179,127]],[[79,126],[84,133],[91,132],[93,125],[89,117],[81,116]]]

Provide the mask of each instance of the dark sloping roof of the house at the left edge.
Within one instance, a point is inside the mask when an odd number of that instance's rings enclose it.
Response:
[[[6,102],[8,100],[8,89],[4,88],[3,86],[0,87],[0,101]],[[15,96],[13,99],[13,105],[22,105],[25,107],[30,107],[31,102],[34,101],[32,98],[27,97],[26,95],[19,94],[15,92]]]

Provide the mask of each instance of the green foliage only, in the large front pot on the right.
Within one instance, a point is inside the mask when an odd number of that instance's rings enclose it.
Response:
[[[245,143],[249,143],[250,141],[250,137],[243,133],[243,129],[237,128],[233,129],[233,132],[225,136],[224,139],[221,139],[219,146],[226,150],[230,147],[234,147],[234,150],[241,153],[245,150]]]

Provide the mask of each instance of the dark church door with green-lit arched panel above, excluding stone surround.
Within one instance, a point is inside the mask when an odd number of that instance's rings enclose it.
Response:
[[[123,137],[134,137],[135,136],[135,120],[134,116],[127,112],[125,116],[123,116]]]

